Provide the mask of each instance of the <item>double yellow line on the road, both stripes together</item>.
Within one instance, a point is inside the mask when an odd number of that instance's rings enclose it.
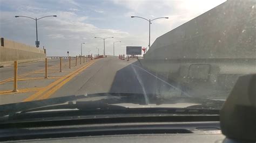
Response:
[[[38,99],[49,98],[54,92],[56,92],[59,88],[61,88],[65,83],[69,82],[73,77],[75,77],[81,71],[83,71],[86,68],[88,68],[89,66],[91,66],[96,61],[97,60],[93,60],[93,61],[87,63],[85,66],[83,66],[83,67],[81,67],[81,68],[79,68],[79,69],[77,69],[75,71],[72,71],[72,73],[59,78],[55,82],[52,82],[51,84],[49,84],[47,87],[44,87],[42,90],[39,90],[38,92],[36,92],[35,94],[31,95],[30,97],[24,99],[23,102],[32,101],[32,100],[34,100],[36,98],[38,98]]]

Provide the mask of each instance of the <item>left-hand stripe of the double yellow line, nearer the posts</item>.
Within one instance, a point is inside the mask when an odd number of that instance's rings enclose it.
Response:
[[[72,71],[72,73],[65,75],[61,78],[59,78],[58,80],[56,80],[55,82],[52,82],[51,84],[49,84],[47,87],[43,88],[42,90],[39,90],[38,92],[36,92],[35,94],[31,95],[30,97],[24,99],[23,102],[28,102],[28,101],[32,101],[33,99],[37,98],[39,95],[43,94],[45,91],[51,89],[53,86],[57,85],[58,83],[62,82],[63,80],[65,80],[65,78],[70,77],[71,75],[75,74],[77,71],[79,71],[80,69],[83,69],[84,67],[86,67],[87,65],[90,65],[91,62],[87,63],[86,65],[84,65],[83,67]]]

